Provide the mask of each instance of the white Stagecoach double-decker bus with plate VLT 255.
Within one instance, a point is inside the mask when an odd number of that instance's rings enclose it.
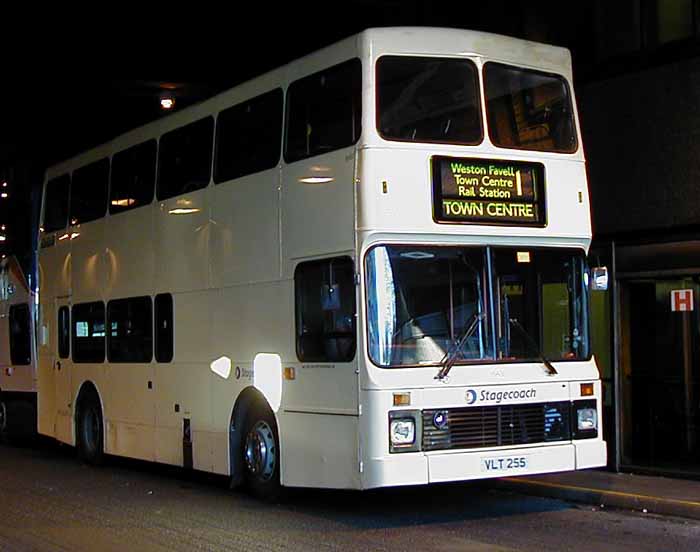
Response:
[[[51,167],[40,433],[261,495],[604,465],[571,83],[368,30]]]

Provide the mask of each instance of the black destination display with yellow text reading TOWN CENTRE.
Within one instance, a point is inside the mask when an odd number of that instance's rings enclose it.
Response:
[[[544,226],[541,163],[433,157],[437,222]]]

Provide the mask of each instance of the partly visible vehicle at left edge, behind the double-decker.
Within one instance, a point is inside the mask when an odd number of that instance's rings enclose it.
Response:
[[[36,433],[35,304],[14,256],[0,260],[0,439]]]

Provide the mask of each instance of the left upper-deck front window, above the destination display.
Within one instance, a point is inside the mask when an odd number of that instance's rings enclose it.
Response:
[[[478,144],[477,69],[464,59],[384,56],[377,62],[377,129],[387,140]]]

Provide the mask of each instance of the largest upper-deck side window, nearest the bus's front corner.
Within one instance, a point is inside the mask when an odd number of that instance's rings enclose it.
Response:
[[[297,161],[357,142],[361,90],[359,59],[293,82],[287,91],[285,160]]]

